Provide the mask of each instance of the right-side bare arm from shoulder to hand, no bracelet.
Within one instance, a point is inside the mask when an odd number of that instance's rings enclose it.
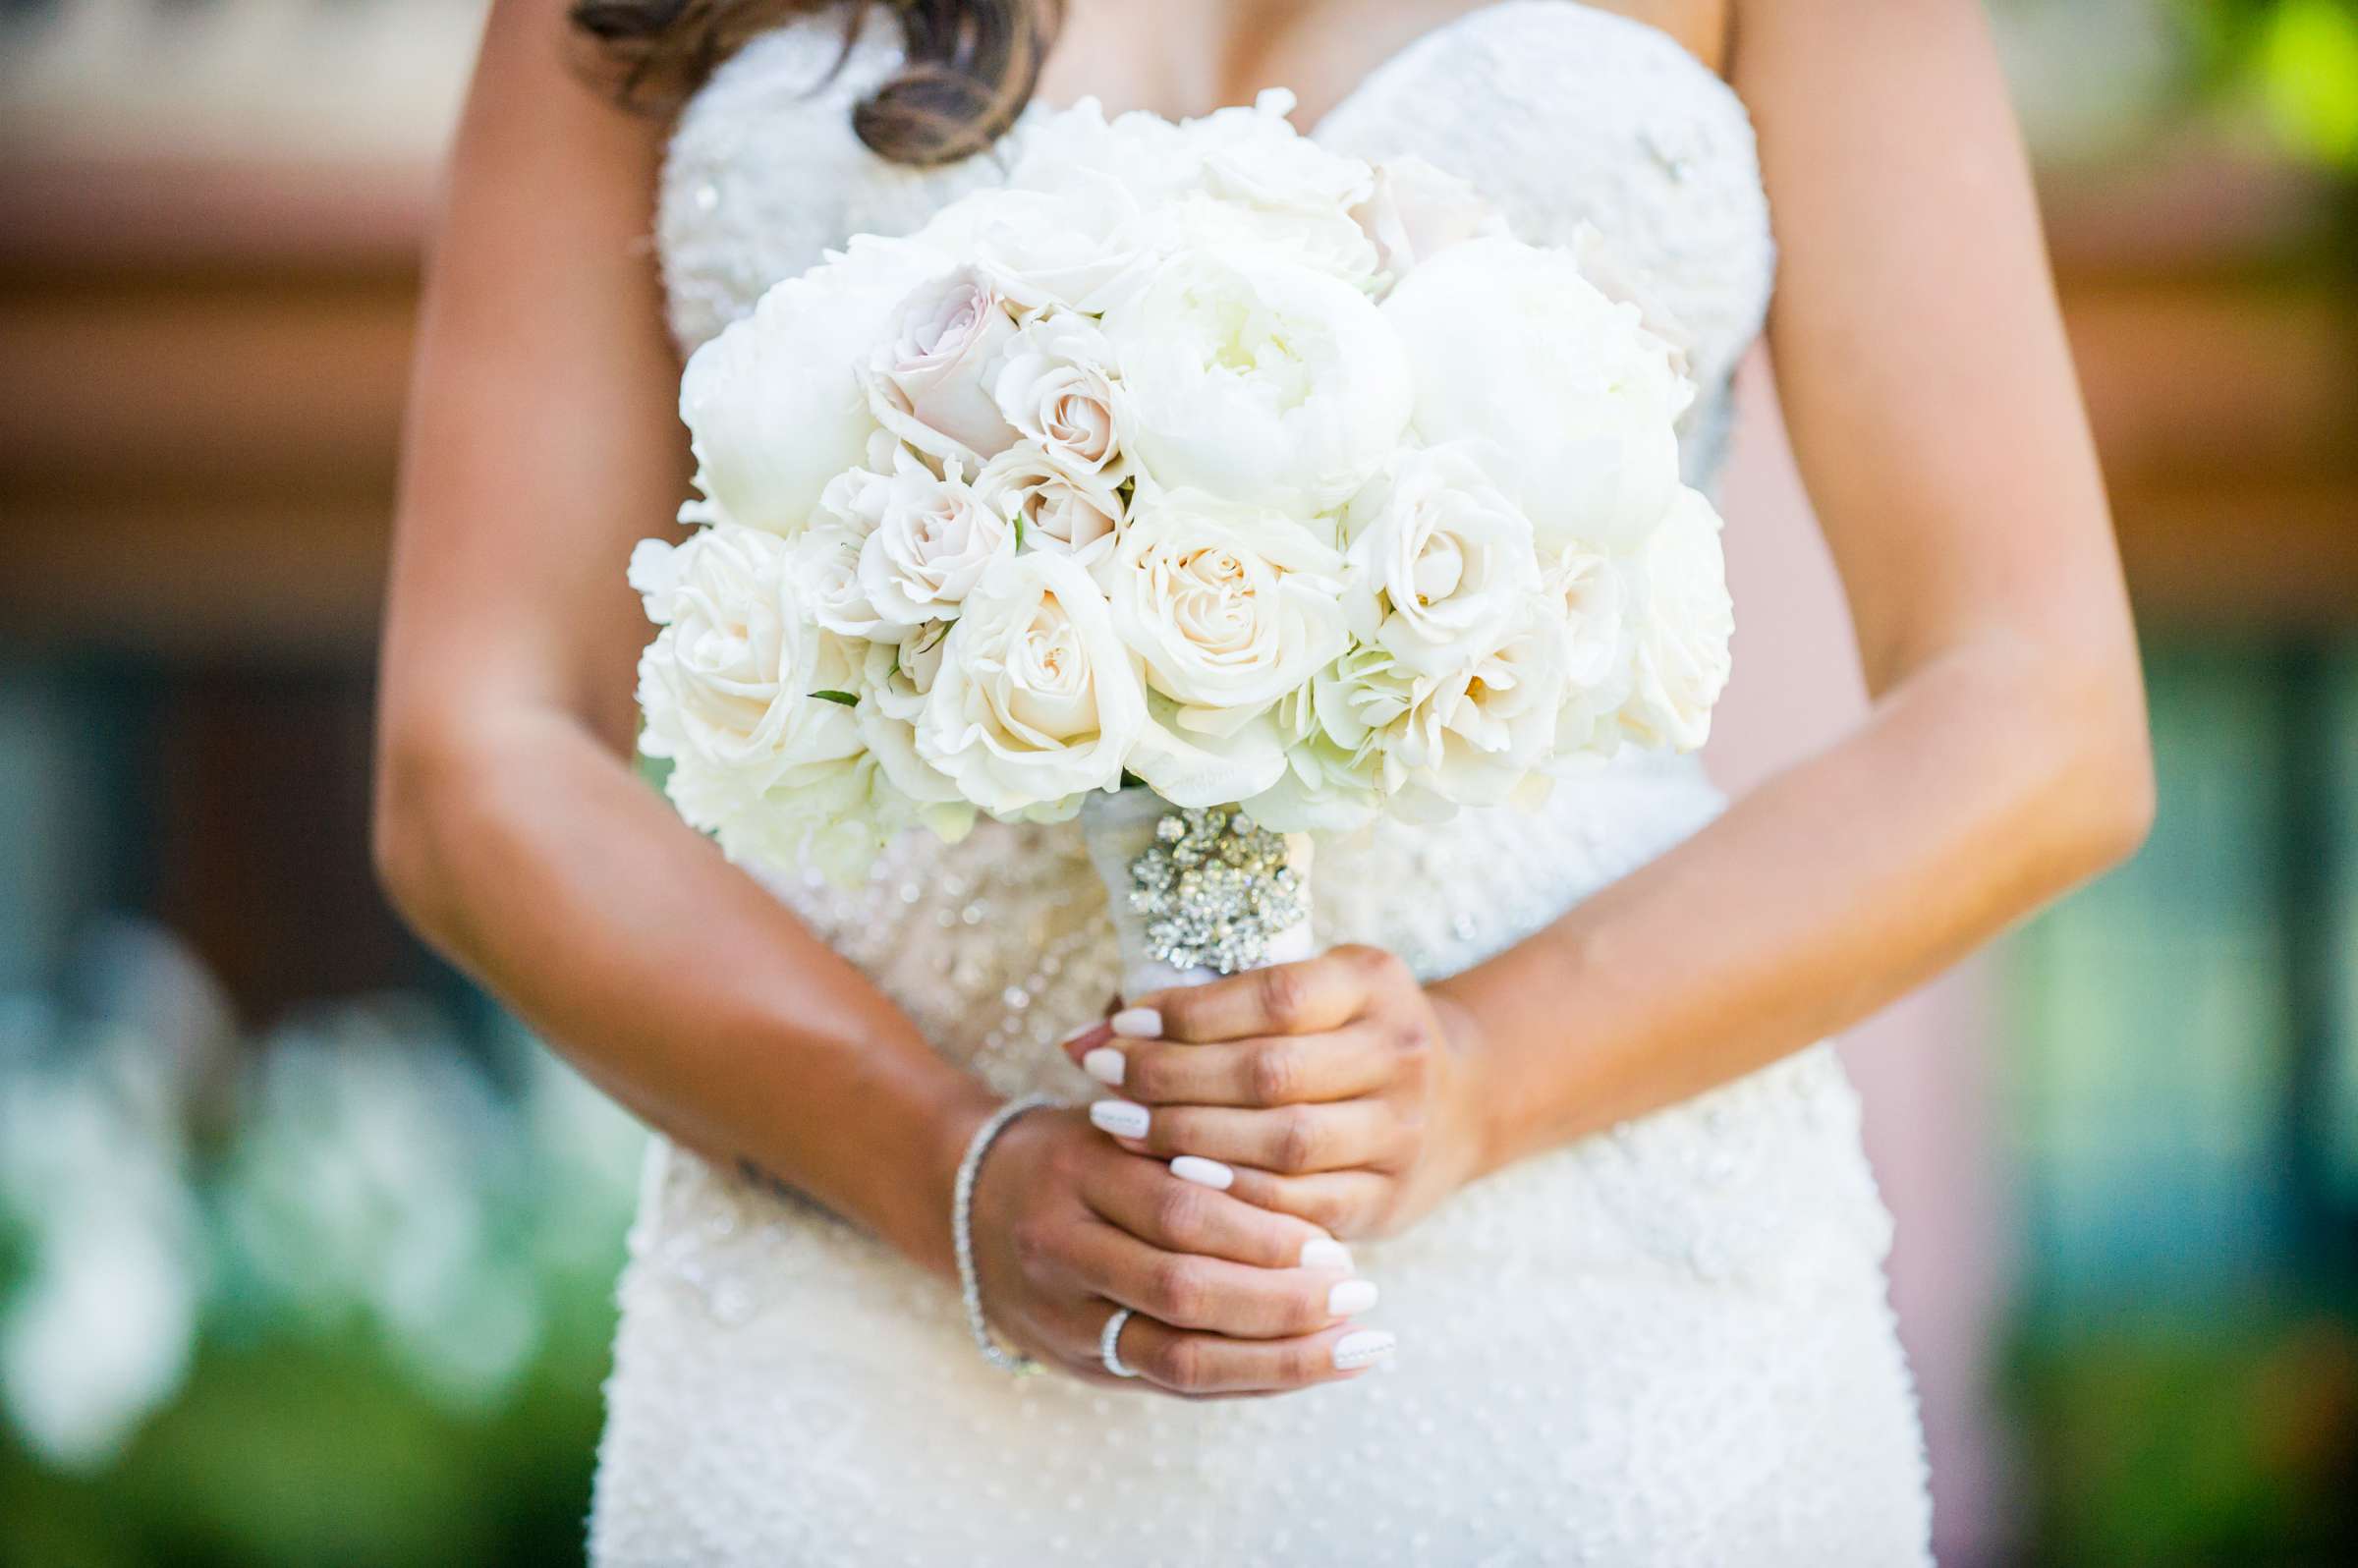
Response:
[[[1978,5],[1743,5],[1735,83],[1783,245],[1778,391],[1872,717],[1429,993],[1346,953],[1151,997],[1170,1040],[1273,1040],[1217,1059],[1115,1042],[1125,1094],[1188,1101],[1155,1111],[1146,1148],[1368,1167],[1382,1179],[1233,1191],[1384,1228],[1856,1023],[2143,837],[2136,646]],[[1287,1108],[1205,1108],[1271,1094]]]

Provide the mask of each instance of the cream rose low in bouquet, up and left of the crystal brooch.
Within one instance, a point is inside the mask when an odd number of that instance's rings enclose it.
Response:
[[[917,755],[995,816],[1063,811],[1111,790],[1146,696],[1106,599],[1068,556],[990,564],[950,627]]]

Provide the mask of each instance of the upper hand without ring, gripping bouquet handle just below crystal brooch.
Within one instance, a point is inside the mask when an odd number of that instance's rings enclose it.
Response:
[[[1382,948],[1160,990],[1066,1042],[1122,1148],[1335,1236],[1389,1236],[1483,1165],[1464,1009]],[[1127,1106],[1127,1108],[1125,1108]]]

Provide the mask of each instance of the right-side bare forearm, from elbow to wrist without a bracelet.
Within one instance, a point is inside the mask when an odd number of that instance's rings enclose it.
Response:
[[[1469,1021],[1481,1170],[1858,1023],[2150,821],[2134,674],[1990,639],[1530,941],[1436,990]]]

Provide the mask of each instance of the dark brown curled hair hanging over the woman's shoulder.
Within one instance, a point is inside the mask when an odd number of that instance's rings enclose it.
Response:
[[[625,104],[670,113],[747,38],[844,14],[844,50],[872,5],[901,26],[901,68],[851,108],[894,163],[955,163],[1014,125],[1040,80],[1063,0],[573,0],[573,26]]]

